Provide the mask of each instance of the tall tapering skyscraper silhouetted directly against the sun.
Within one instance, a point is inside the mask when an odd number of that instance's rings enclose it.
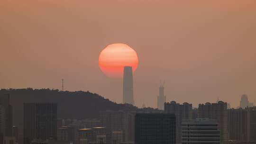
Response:
[[[134,105],[133,100],[133,76],[132,76],[132,67],[124,67],[124,76],[123,76],[123,103],[128,103]]]

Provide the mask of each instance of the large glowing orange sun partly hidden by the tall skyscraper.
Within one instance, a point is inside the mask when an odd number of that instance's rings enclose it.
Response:
[[[101,51],[99,56],[101,71],[111,77],[123,76],[124,66],[132,66],[133,72],[138,66],[138,56],[134,49],[126,44],[111,44]]]

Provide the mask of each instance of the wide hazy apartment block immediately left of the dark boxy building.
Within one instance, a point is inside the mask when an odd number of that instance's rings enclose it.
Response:
[[[107,144],[112,144],[112,132],[122,132],[123,142],[134,141],[135,112],[105,111],[101,112],[102,125],[106,127]]]

